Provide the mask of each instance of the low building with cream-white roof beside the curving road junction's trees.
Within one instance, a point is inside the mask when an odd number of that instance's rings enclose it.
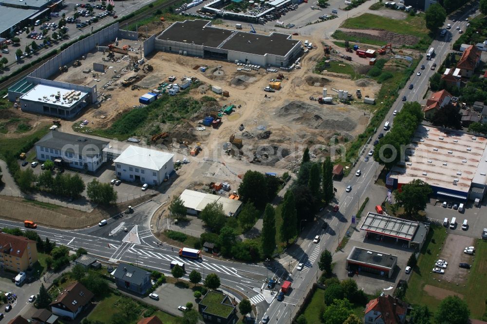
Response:
[[[237,216],[242,207],[242,201],[188,189],[179,198],[183,200],[189,215],[198,215],[206,205],[212,203],[222,204],[226,216]]]

